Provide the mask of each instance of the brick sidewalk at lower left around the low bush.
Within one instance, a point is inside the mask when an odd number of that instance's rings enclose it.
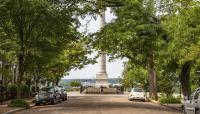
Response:
[[[30,99],[25,99],[29,104],[30,107],[33,107],[35,104],[32,102],[34,99],[30,98]],[[10,101],[5,101],[3,103],[0,103],[0,114],[9,114],[11,112],[15,112],[15,111],[19,111],[19,110],[23,110],[24,108],[18,108],[18,107],[8,107],[8,103]]]

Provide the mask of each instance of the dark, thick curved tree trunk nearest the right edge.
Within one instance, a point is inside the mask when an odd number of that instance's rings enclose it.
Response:
[[[181,68],[181,74],[179,75],[179,79],[181,82],[183,95],[189,97],[191,94],[191,86],[190,86],[190,70],[191,70],[191,61],[186,62]]]

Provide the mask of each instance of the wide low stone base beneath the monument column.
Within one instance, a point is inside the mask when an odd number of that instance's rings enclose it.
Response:
[[[86,94],[120,94],[117,88],[103,88],[102,91],[100,88],[87,88],[83,91]]]

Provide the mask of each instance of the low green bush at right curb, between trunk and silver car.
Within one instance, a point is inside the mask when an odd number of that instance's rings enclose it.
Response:
[[[174,97],[161,98],[160,103],[161,104],[178,104],[178,103],[181,103],[181,99],[174,98]]]

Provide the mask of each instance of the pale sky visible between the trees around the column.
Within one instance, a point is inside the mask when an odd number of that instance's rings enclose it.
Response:
[[[115,16],[110,12],[110,9],[106,10],[106,23],[111,22],[115,19]],[[94,20],[89,21],[86,27],[86,23],[90,20],[90,17],[81,20],[82,26],[79,28],[79,31],[84,32],[86,29],[89,33],[94,33],[99,30],[99,17]],[[108,57],[107,57],[108,60]],[[117,59],[113,62],[107,61],[107,74],[108,78],[118,78],[121,77],[122,71],[124,69],[123,63],[126,62],[126,59]],[[71,70],[68,76],[65,76],[64,79],[90,79],[96,77],[96,70],[98,68],[98,63],[94,65],[86,65],[81,70]]]

